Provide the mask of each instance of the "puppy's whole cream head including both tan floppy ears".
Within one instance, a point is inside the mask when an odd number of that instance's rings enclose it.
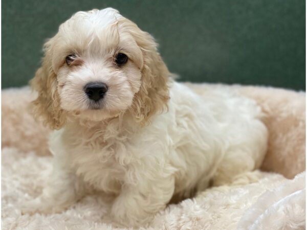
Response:
[[[70,114],[100,121],[129,111],[146,123],[166,107],[169,72],[155,40],[117,10],[74,14],[44,51],[32,105],[53,129]]]

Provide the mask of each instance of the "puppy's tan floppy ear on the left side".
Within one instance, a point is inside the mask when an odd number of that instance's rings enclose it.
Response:
[[[44,45],[45,57],[35,77],[30,81],[31,87],[38,92],[38,97],[31,103],[35,118],[41,118],[43,124],[51,129],[60,129],[65,123],[65,112],[60,107],[57,89],[57,76],[52,67],[51,44]]]

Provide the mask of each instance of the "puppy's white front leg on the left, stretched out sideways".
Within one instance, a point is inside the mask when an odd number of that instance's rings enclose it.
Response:
[[[22,205],[23,214],[58,213],[84,195],[83,181],[67,167],[62,159],[54,159],[53,172],[48,178],[46,188],[40,196]]]

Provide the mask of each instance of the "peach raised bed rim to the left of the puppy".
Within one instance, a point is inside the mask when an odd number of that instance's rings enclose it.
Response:
[[[2,90],[2,147],[15,147],[34,151],[38,155],[50,154],[49,130],[35,122],[28,105],[36,97],[28,86]]]

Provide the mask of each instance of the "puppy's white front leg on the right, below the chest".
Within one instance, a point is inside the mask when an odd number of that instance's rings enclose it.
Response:
[[[174,192],[174,178],[143,179],[137,185],[124,185],[112,206],[112,216],[118,223],[138,227],[163,210]]]

